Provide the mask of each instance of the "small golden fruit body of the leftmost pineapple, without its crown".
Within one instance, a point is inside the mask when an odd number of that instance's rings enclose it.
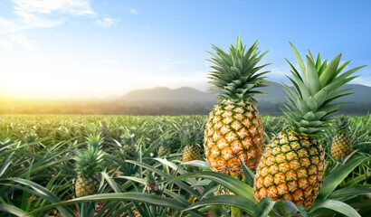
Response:
[[[88,196],[97,193],[99,188],[99,175],[78,175],[75,184],[77,197]]]

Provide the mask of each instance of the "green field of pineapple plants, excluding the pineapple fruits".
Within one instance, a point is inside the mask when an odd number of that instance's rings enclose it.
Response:
[[[204,157],[182,165],[185,146],[204,155],[205,116],[0,116],[0,216],[369,216],[371,115],[350,117],[353,153],[335,160],[335,132],[321,138],[326,173],[308,211],[289,201],[257,204],[254,171],[212,172]],[[262,117],[266,143],[285,122]],[[76,156],[100,146],[99,187],[76,197]],[[233,208],[231,208],[233,207]],[[241,216],[240,215],[240,216]]]

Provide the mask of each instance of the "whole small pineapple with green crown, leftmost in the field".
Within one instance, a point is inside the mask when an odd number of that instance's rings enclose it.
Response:
[[[91,139],[93,138],[93,139]],[[76,171],[78,177],[75,183],[75,193],[77,197],[88,196],[97,193],[100,181],[100,163],[102,161],[103,152],[100,150],[102,140],[98,136],[90,137],[88,148],[84,151],[79,151],[75,156]],[[97,141],[99,141],[97,143]]]

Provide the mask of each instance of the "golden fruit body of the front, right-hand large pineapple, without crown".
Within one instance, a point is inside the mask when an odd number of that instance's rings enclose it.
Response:
[[[321,144],[296,133],[281,132],[266,147],[253,183],[255,199],[290,200],[313,205],[322,185],[325,153]]]

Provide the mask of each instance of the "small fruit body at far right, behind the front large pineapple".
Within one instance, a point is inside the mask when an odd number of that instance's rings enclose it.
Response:
[[[350,137],[347,133],[341,133],[332,139],[331,155],[339,160],[341,153],[343,153],[343,159],[349,156],[353,152],[353,145]]]

